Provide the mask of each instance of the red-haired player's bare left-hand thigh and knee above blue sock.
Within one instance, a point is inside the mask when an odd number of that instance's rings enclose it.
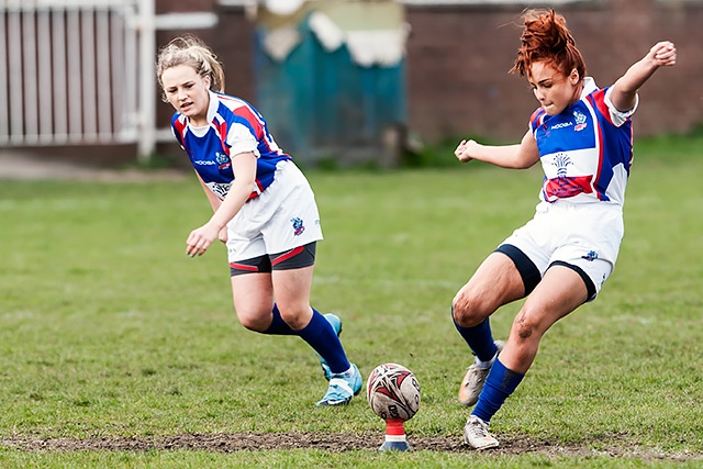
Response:
[[[462,316],[480,323],[503,304],[523,298],[525,287],[513,260],[503,253],[491,253],[469,281],[457,292],[451,303],[455,319]],[[461,321],[459,324],[464,325]],[[470,326],[473,324],[469,324]]]

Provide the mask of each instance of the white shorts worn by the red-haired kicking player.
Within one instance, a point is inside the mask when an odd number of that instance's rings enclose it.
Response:
[[[595,287],[592,301],[615,267],[623,234],[622,206],[559,200],[539,203],[535,216],[503,244],[522,250],[543,277],[553,263],[577,266]]]

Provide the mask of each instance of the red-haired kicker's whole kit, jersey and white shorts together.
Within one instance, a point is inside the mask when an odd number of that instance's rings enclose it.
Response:
[[[631,116],[584,78],[580,99],[557,115],[529,119],[545,178],[535,216],[504,245],[520,249],[544,276],[555,264],[588,276],[589,301],[613,271],[623,239],[623,203],[633,161]]]

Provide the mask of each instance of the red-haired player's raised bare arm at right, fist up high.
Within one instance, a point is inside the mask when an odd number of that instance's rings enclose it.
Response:
[[[615,109],[621,112],[633,109],[637,100],[637,90],[657,71],[657,68],[671,67],[676,63],[677,48],[673,43],[663,41],[655,44],[646,56],[633,64],[612,86],[610,98]]]

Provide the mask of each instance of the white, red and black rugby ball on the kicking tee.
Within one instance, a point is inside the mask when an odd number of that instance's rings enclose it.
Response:
[[[384,421],[409,421],[420,407],[420,383],[402,365],[383,364],[369,375],[366,397],[371,410]]]

